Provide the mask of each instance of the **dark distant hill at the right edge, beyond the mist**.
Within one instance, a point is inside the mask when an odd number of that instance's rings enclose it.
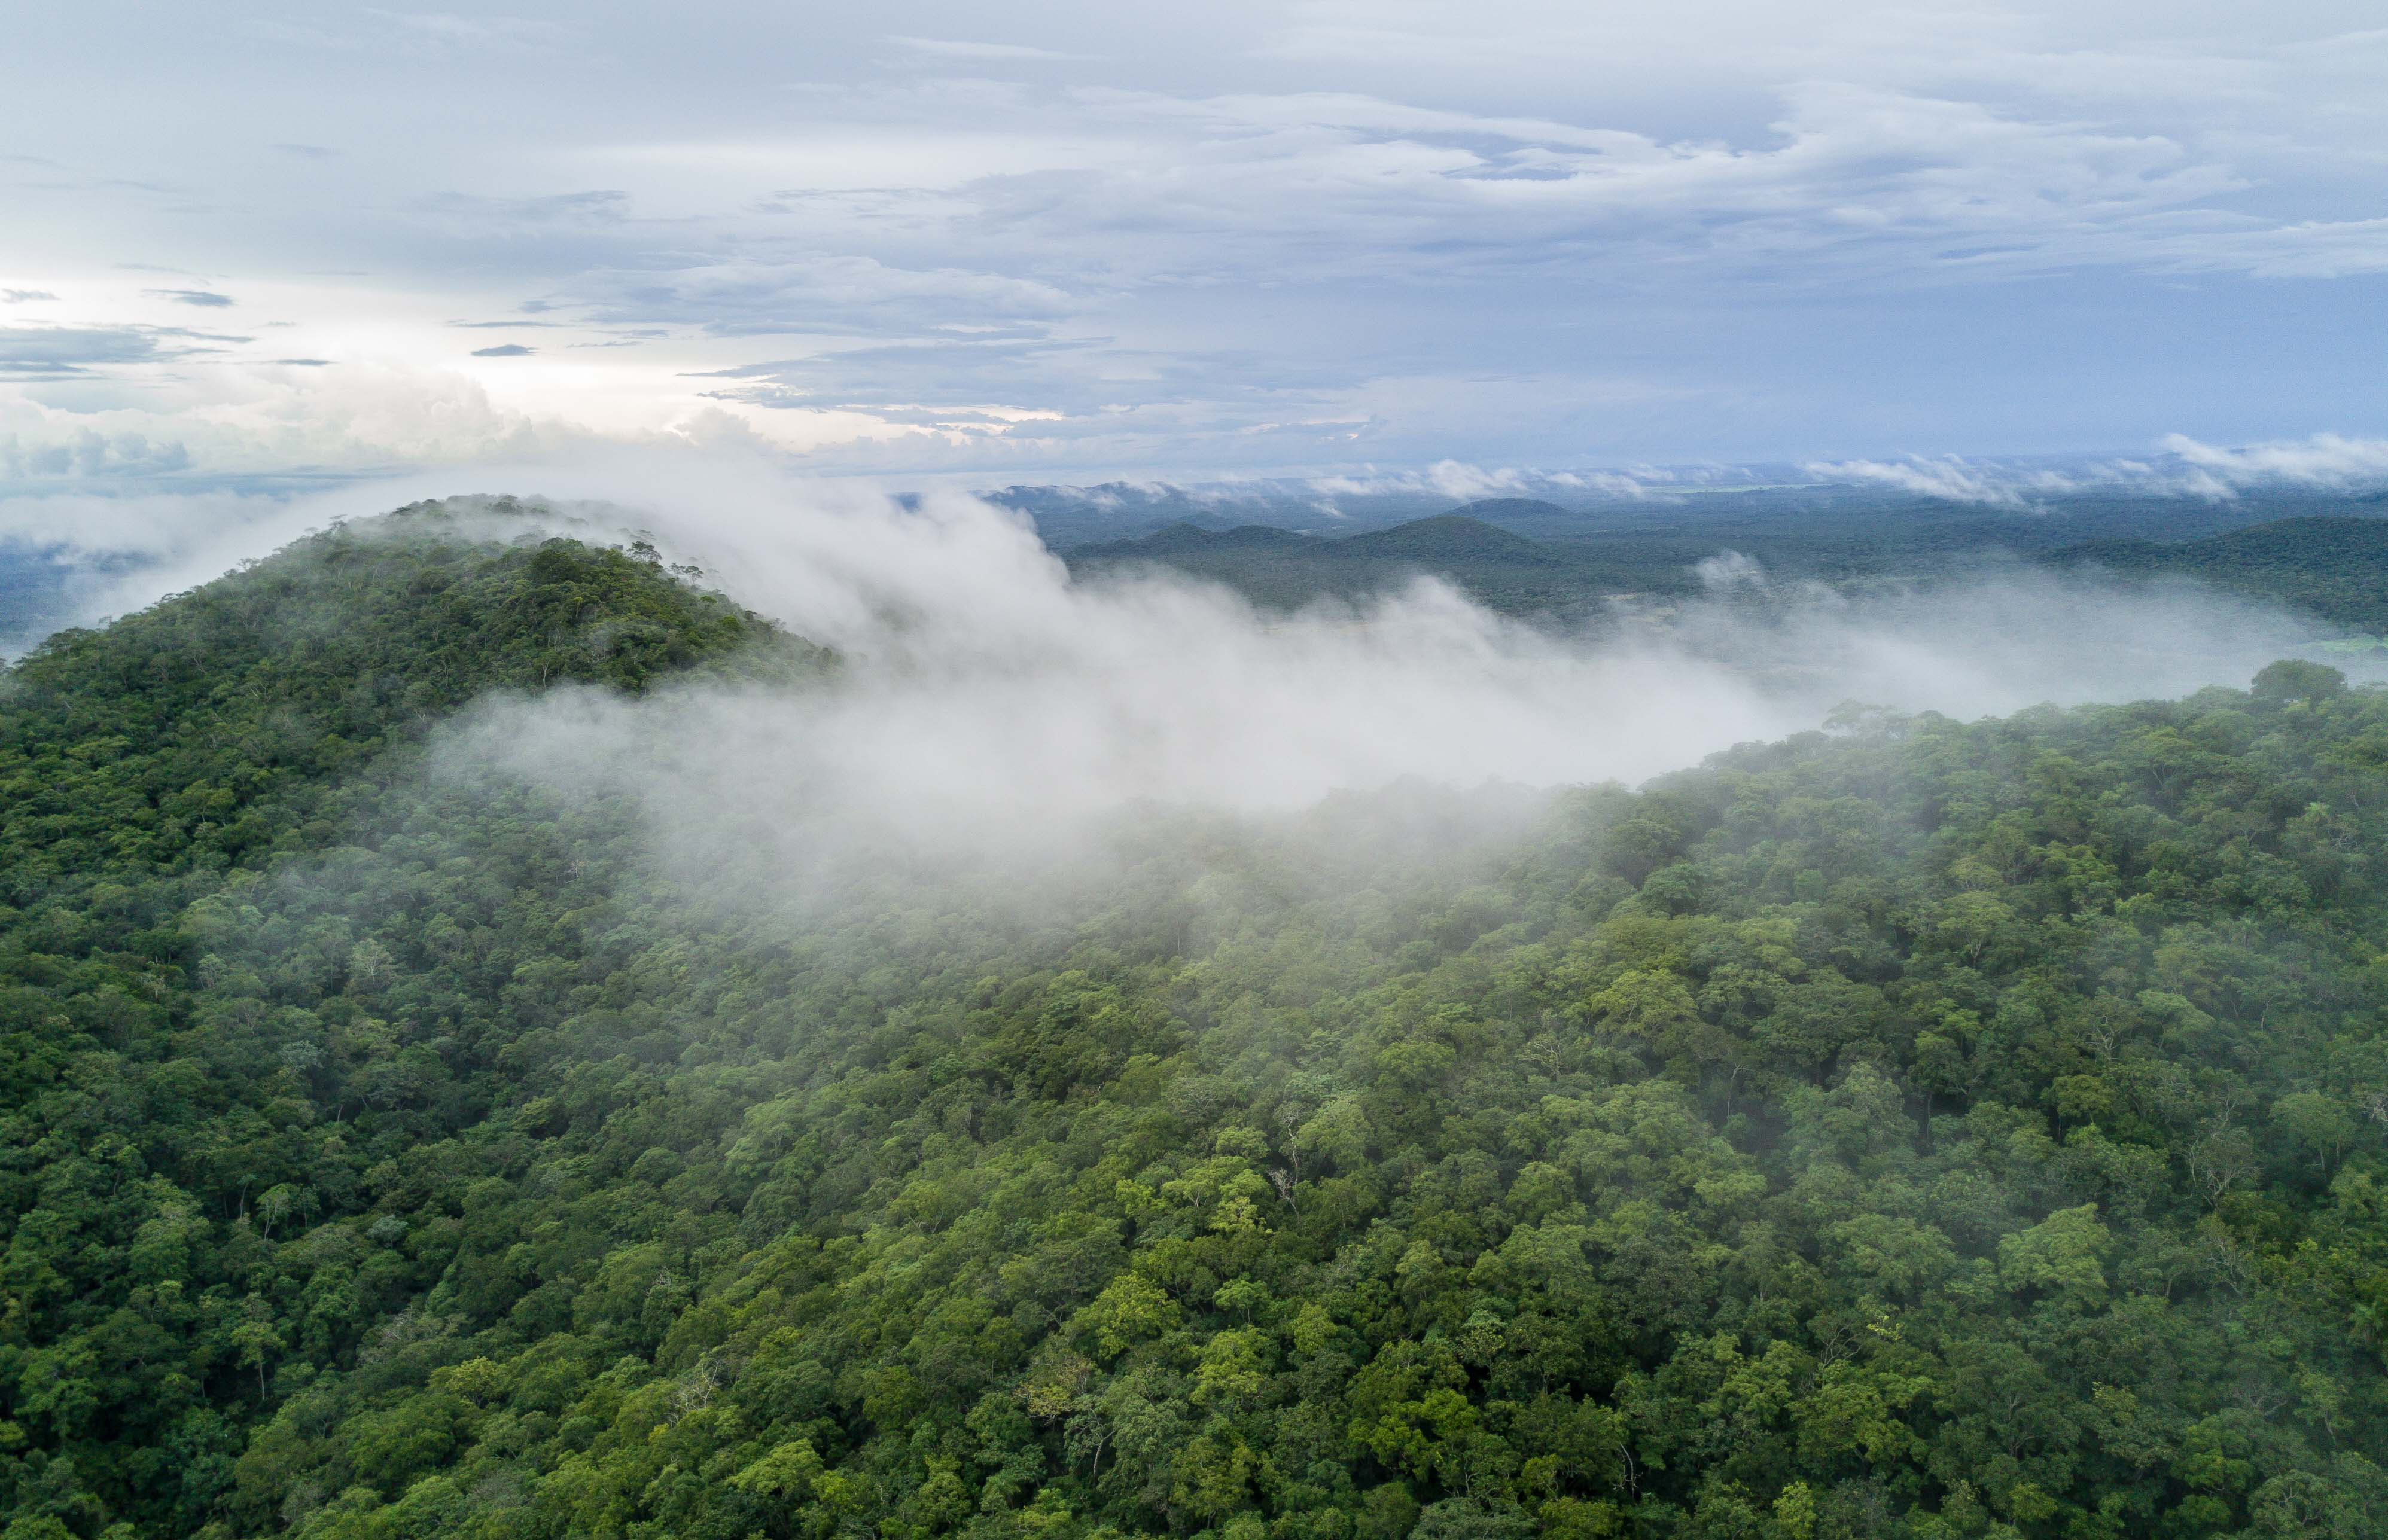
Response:
[[[2204,540],[2094,540],[2049,554],[2056,566],[2180,575],[2324,618],[2388,630],[2388,520],[2276,518]]]

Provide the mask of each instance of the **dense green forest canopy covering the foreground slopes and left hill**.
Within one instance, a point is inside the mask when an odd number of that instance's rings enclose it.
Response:
[[[7,676],[7,1540],[2383,1533],[2388,692],[1855,712],[1044,926],[437,769],[757,649],[334,530]]]

